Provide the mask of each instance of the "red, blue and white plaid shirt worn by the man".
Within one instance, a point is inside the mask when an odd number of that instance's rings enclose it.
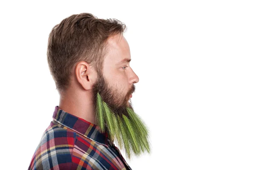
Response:
[[[58,106],[32,157],[29,170],[131,170],[108,133]]]

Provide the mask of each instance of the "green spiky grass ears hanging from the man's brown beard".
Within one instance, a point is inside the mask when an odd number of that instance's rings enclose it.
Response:
[[[117,115],[102,100],[98,92],[95,111],[96,125],[99,126],[99,131],[101,133],[108,132],[111,145],[116,139],[120,149],[125,149],[128,159],[131,159],[132,155],[140,156],[142,153],[151,152],[148,128],[133,109],[126,107],[127,116],[124,114]]]

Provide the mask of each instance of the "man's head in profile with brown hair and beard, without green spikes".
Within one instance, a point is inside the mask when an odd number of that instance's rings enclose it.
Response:
[[[99,91],[114,110],[129,105],[139,78],[129,66],[130,49],[122,35],[125,29],[119,20],[98,19],[89,13],[67,17],[52,28],[47,61],[61,96],[72,86],[72,79],[77,79],[92,97]]]

